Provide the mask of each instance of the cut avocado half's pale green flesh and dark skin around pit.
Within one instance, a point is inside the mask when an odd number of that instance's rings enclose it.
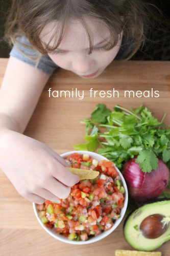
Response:
[[[149,217],[152,220],[154,216],[164,216],[166,219],[166,230],[158,238],[147,238],[141,230],[141,223]],[[151,251],[159,248],[163,243],[170,240],[170,199],[158,199],[150,203],[143,204],[138,209],[130,212],[124,222],[124,236],[127,242],[137,250]],[[162,225],[162,223],[159,223]],[[154,229],[157,224],[154,225]],[[151,227],[146,226],[150,229]],[[163,229],[163,227],[161,227]],[[161,229],[160,229],[161,231]]]

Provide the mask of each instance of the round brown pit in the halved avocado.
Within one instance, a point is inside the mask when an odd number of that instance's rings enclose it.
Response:
[[[165,216],[153,214],[145,218],[140,224],[140,231],[148,239],[156,239],[162,236],[167,230],[169,223],[165,223]]]

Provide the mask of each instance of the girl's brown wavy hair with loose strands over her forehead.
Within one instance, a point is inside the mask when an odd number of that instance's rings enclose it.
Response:
[[[26,36],[33,49],[42,55],[52,52],[60,45],[70,20],[79,20],[88,35],[90,51],[93,49],[92,32],[86,17],[102,20],[109,29],[110,40],[106,51],[118,42],[119,34],[124,31],[125,44],[134,44],[139,49],[145,39],[144,29],[149,24],[150,9],[142,0],[13,0],[6,24],[5,38],[15,44],[17,36]],[[47,45],[42,44],[40,34],[51,22],[58,22]],[[55,44],[50,42],[55,38]]]

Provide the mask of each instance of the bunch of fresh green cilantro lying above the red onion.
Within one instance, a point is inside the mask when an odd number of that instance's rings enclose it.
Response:
[[[159,122],[143,105],[131,111],[116,105],[111,112],[104,104],[98,104],[91,118],[82,122],[86,124],[87,143],[74,148],[93,152],[100,145],[98,153],[119,169],[125,161],[137,156],[142,171],[150,173],[158,167],[158,158],[170,166],[170,129],[164,127],[164,117]]]

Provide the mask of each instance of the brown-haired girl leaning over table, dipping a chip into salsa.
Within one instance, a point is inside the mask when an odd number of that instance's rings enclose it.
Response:
[[[141,0],[14,0],[6,38],[14,47],[0,91],[0,168],[18,193],[42,204],[67,198],[78,176],[51,148],[22,133],[49,76],[59,66],[99,76],[130,58],[144,40]],[[48,182],[46,182],[48,181]]]

